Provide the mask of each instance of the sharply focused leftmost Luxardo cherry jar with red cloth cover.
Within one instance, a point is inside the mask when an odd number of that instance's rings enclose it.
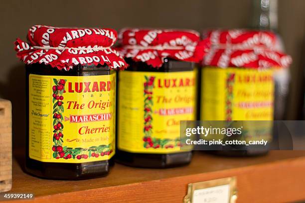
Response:
[[[47,179],[107,175],[115,154],[113,29],[35,25],[17,39],[26,64],[26,171]]]

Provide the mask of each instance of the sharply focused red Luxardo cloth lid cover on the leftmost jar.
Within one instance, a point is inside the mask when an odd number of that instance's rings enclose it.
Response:
[[[111,47],[117,32],[109,28],[60,28],[34,25],[27,33],[28,43],[17,39],[15,51],[25,64],[40,63],[59,70],[75,65],[107,65],[125,69],[128,65]]]

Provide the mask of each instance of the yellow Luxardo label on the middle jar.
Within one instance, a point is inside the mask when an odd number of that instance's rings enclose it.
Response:
[[[120,72],[118,148],[179,152],[180,120],[196,119],[195,91],[196,71]]]

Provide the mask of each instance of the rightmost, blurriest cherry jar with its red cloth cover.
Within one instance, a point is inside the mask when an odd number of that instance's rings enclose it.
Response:
[[[210,39],[211,48],[201,71],[200,120],[224,120],[232,123],[230,127],[243,127],[241,134],[224,139],[268,142],[231,144],[213,153],[266,154],[273,137],[274,70],[289,67],[291,57],[276,49],[277,38],[270,31],[211,30],[204,32],[203,38]]]

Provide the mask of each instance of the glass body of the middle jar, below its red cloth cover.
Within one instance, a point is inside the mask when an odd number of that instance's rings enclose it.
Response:
[[[126,60],[119,72],[116,160],[146,168],[190,163],[192,152],[180,150],[180,120],[196,119],[194,63],[165,59],[160,68]]]

